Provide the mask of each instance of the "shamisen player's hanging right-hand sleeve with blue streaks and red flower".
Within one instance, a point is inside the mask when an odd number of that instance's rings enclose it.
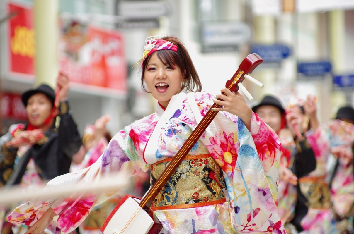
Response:
[[[258,132],[251,134],[255,129]],[[240,233],[285,233],[277,209],[280,140],[255,114],[251,133],[239,119],[240,147],[233,176],[235,227]]]

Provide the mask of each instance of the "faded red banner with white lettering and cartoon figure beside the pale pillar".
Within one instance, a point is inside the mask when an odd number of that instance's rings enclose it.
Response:
[[[127,65],[119,31],[70,21],[63,25],[62,32],[60,67],[71,81],[127,90]]]

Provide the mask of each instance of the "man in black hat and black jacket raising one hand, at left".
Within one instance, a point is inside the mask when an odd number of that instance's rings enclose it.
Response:
[[[82,141],[69,113],[68,77],[59,73],[57,87],[55,93],[50,86],[41,84],[22,94],[28,123],[12,125],[0,138],[0,187],[34,182],[23,180],[28,173],[36,174],[29,175],[31,178],[46,181],[69,172],[72,156]],[[35,170],[28,170],[32,163]]]

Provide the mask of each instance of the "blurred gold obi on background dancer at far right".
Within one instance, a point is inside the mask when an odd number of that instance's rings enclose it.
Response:
[[[298,182],[302,194],[307,198],[309,208],[329,209],[331,207],[331,192],[324,177],[305,176]]]

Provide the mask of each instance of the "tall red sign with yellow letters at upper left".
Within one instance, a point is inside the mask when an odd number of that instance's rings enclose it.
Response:
[[[8,4],[9,14],[9,70],[25,75],[34,74],[35,41],[32,8]]]

